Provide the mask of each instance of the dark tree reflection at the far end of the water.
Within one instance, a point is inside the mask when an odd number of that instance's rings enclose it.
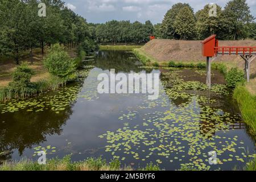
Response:
[[[131,57],[135,57],[133,53],[125,53],[125,51],[99,51],[96,57],[96,67],[104,71],[115,69],[116,73],[142,72],[143,69],[139,68],[142,65],[141,61]]]

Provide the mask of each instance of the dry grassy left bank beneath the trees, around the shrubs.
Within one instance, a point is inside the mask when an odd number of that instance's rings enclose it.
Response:
[[[70,57],[76,60],[77,65],[80,65],[82,61],[81,57],[77,57],[74,49],[67,50]],[[12,74],[16,69],[14,61],[10,57],[1,57],[0,68],[0,101],[11,100],[12,98],[24,98],[30,97],[38,93],[56,90],[60,86],[66,84],[67,80],[52,76],[43,65],[42,55],[40,55],[40,49],[35,49],[34,56],[32,57],[33,64],[29,67],[35,71],[35,76],[31,78],[34,89],[32,92],[28,92],[26,89],[20,90],[19,93],[10,92],[9,83],[12,81]],[[30,63],[30,57],[28,52],[23,52],[23,56],[20,59],[20,63]]]

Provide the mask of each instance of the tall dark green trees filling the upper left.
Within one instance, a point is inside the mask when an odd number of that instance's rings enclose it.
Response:
[[[39,3],[45,3],[46,16],[39,16]],[[60,43],[89,52],[95,48],[86,19],[65,7],[60,0],[1,0],[0,56],[13,56],[16,64],[24,50]],[[32,59],[31,59],[32,60]]]

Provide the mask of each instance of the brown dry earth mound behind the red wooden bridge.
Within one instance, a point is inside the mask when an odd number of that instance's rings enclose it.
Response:
[[[141,49],[146,55],[154,57],[159,62],[181,61],[202,62],[206,58],[201,53],[201,41],[192,40],[168,40],[155,39],[148,42]],[[220,46],[256,46],[256,40],[220,41]],[[239,67],[243,69],[245,62],[240,56],[218,56],[216,63],[226,63],[228,67]],[[256,60],[251,63],[251,75],[256,76]]]

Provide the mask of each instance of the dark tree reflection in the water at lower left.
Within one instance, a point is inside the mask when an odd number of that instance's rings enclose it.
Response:
[[[9,122],[0,125],[0,151],[3,151],[0,162],[10,159],[14,150],[22,155],[26,148],[45,142],[47,135],[60,135],[71,114],[72,106],[60,114],[51,110],[31,113],[22,110],[1,115],[4,121]]]

